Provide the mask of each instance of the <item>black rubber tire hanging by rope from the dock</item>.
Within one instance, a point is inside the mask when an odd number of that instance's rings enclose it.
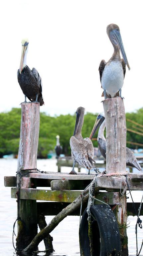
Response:
[[[91,208],[91,228],[89,231],[87,208],[79,230],[81,256],[120,256],[121,242],[118,224],[110,206],[96,204]],[[92,248],[90,248],[92,237]],[[92,254],[91,254],[92,251]]]

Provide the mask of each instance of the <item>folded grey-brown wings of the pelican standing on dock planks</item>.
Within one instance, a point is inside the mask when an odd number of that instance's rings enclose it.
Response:
[[[79,142],[74,136],[72,136],[70,138],[70,147],[73,160],[87,169],[94,167],[94,164],[91,161],[91,155],[93,158],[93,154],[91,154],[92,150],[91,146],[88,145],[88,141],[83,140],[83,142]],[[89,152],[91,150],[91,152],[89,153],[88,150]]]

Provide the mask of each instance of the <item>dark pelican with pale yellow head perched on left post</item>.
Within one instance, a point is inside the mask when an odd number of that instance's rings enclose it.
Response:
[[[20,68],[17,72],[18,82],[26,97],[32,102],[40,102],[40,106],[44,104],[42,97],[42,80],[36,68],[32,70],[26,65],[26,57],[28,52],[28,40],[22,40],[22,54]]]

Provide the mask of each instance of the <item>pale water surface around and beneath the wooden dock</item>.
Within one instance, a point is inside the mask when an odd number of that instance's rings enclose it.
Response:
[[[37,160],[37,168],[43,171],[57,171],[56,160],[40,159]],[[62,172],[69,172],[70,167],[62,167]],[[10,188],[4,187],[4,176],[15,176],[17,170],[17,159],[0,159],[0,255],[14,256],[16,255],[12,244],[13,224],[17,218],[16,199],[12,199]],[[76,170],[76,169],[75,169]],[[82,169],[82,172],[85,172]],[[132,191],[134,202],[140,202],[142,191]],[[129,196],[129,195],[128,195]],[[131,202],[129,196],[128,202]],[[49,223],[53,216],[46,216],[46,222]],[[143,217],[141,217],[143,221]],[[130,222],[127,229],[129,255],[136,255],[136,238],[135,224],[137,217],[128,217]],[[17,230],[17,228],[16,228]],[[67,216],[51,233],[53,237],[53,248],[55,252],[53,256],[80,256],[79,249],[79,216]],[[138,228],[138,251],[143,239],[143,229]],[[14,240],[15,242],[15,240]],[[39,250],[44,250],[44,243],[38,246]],[[39,253],[38,255],[44,255]],[[143,249],[141,254],[143,255]]]

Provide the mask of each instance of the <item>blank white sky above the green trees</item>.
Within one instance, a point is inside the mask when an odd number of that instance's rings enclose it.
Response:
[[[21,40],[29,38],[27,65],[42,78],[44,106],[51,116],[103,111],[99,64],[113,53],[106,27],[115,23],[130,65],[122,87],[126,112],[143,107],[142,1],[5,0],[0,4],[0,112],[20,107],[17,81]]]

